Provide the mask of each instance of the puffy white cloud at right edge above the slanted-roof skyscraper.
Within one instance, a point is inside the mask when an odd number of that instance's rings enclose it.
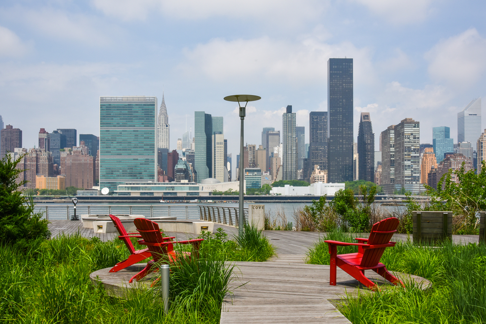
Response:
[[[425,54],[428,72],[436,81],[468,87],[486,70],[486,39],[475,28],[437,43]]]

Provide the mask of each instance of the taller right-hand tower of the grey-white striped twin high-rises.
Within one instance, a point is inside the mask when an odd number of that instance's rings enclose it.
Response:
[[[420,192],[420,123],[411,118],[395,126],[395,184]]]

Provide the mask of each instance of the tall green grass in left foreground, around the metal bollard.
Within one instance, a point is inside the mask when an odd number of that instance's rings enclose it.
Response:
[[[110,297],[89,279],[128,251],[119,240],[61,235],[30,249],[0,246],[1,323],[219,323],[232,271],[224,259],[181,260],[172,267],[171,303],[164,315],[157,290]]]

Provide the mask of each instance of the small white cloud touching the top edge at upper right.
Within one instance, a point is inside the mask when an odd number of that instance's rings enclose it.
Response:
[[[425,20],[432,0],[354,0],[392,24],[411,24]]]

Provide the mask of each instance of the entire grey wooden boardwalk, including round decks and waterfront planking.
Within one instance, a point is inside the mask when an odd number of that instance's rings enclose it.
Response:
[[[222,227],[231,237],[238,229],[215,224],[214,231]],[[79,221],[52,221],[49,225],[52,236],[75,233],[86,238],[98,237],[102,241],[116,239],[117,233],[94,233],[83,228]],[[238,323],[350,323],[334,305],[346,293],[356,294],[366,290],[355,279],[338,268],[337,285],[329,285],[329,266],[305,264],[304,257],[309,247],[324,237],[324,233],[294,231],[264,231],[264,235],[275,246],[277,256],[267,262],[236,262],[232,278],[232,295],[225,298],[221,311],[222,324]],[[167,233],[177,239],[193,238],[188,233]],[[367,234],[364,235],[365,237]],[[396,234],[392,240],[406,241],[408,235]],[[477,235],[453,236],[455,243],[478,242]],[[137,269],[121,273],[107,273],[109,268],[98,271],[106,276],[107,285],[125,285],[125,277]],[[372,271],[366,275],[379,284],[386,284]],[[430,282],[417,276],[397,274],[402,280],[413,280],[429,287]],[[113,281],[115,279],[115,281]],[[121,280],[121,281],[120,281]],[[115,283],[118,282],[118,283]],[[244,285],[243,285],[244,284]],[[242,286],[243,285],[243,286]],[[239,287],[241,286],[241,287]],[[389,284],[390,287],[394,287]],[[122,287],[122,286],[120,286]],[[127,286],[123,286],[127,287]]]

